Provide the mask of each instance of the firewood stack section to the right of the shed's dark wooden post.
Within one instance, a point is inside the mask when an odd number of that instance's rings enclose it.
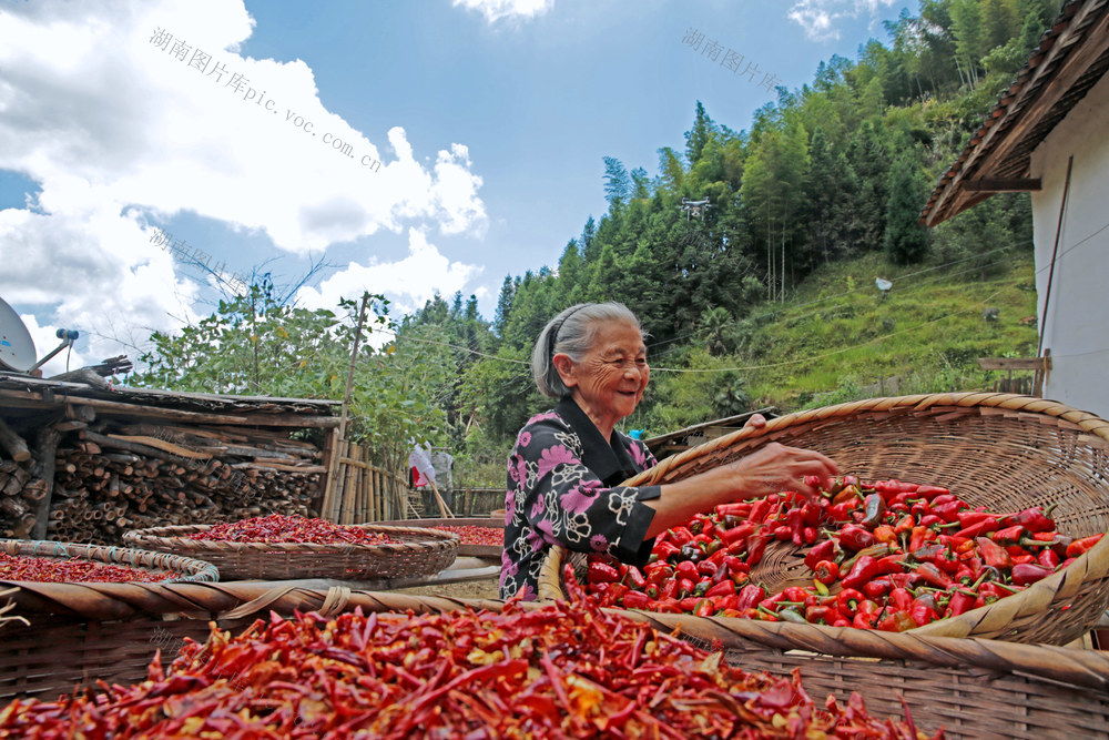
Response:
[[[322,453],[282,436],[151,424],[80,430],[58,449],[48,537],[118,544],[128,529],[316,516]]]

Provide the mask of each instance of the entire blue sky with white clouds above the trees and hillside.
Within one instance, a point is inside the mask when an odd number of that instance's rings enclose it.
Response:
[[[854,59],[904,7],[0,1],[0,297],[40,354],[69,326],[78,362],[136,357],[222,287],[153,244],[159,229],[226,280],[265,263],[289,282],[325,260],[303,305],[365,288],[406,312],[461,291],[491,317],[506,274],[554,264],[603,213],[602,156],[653,176],[698,100],[744,129],[771,84]],[[755,80],[683,44],[691,28]]]

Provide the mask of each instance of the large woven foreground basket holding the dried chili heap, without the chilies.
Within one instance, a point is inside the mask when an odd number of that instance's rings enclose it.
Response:
[[[40,585],[37,598],[50,591]],[[30,604],[30,601],[24,601]],[[20,604],[20,595],[17,595]],[[91,615],[138,612],[129,619],[44,619],[0,627],[0,701],[52,699],[96,679],[128,683],[145,678],[157,649],[169,661],[183,638],[203,641],[208,620],[241,631],[255,616],[319,611],[430,614],[464,608],[499,609],[500,601],[374,594],[260,584],[139,585],[126,598],[91,590]],[[533,605],[538,606],[538,605]],[[527,607],[526,608],[530,608]],[[180,612],[186,609],[182,616]],[[163,614],[173,619],[163,620]],[[702,649],[723,650],[745,670],[785,676],[801,670],[817,703],[828,693],[843,702],[859,691],[872,713],[902,716],[904,697],[917,727],[947,737],[1044,738],[1109,734],[1109,656],[1098,651],[837,629],[810,625],[718,620],[685,615],[625,611],[657,629],[675,632]]]

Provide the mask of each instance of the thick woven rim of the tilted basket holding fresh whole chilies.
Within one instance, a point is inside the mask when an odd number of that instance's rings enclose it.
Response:
[[[1079,410],[1066,404],[1010,393],[936,393],[909,396],[883,396],[854,401],[802,412],[794,412],[766,422],[761,428],[744,427],[718,439],[665,458],[659,465],[624,480],[623,486],[657,485],[669,473],[701,457],[709,456],[734,444],[774,435],[798,424],[827,422],[871,412],[929,412],[937,407],[988,407],[1019,412],[1022,415],[1045,415],[1076,425],[1083,432],[1109,442],[1109,422],[1096,414]],[[539,598],[558,598],[562,591],[561,566],[569,550],[561,545],[551,547],[539,574]],[[1109,537],[1103,537],[1093,548],[1058,572],[1031,584],[1025,590],[994,604],[973,609],[957,617],[936,620],[908,630],[915,635],[967,637],[976,630],[1000,628],[1014,619],[1044,610],[1057,596],[1069,597],[1078,592],[1087,580],[1103,578],[1109,574]],[[1040,605],[1040,606],[1037,606]]]

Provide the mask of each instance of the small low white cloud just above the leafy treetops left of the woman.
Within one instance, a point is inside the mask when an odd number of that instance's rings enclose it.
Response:
[[[438,292],[450,296],[464,291],[481,273],[481,267],[451,262],[427,241],[419,229],[408,230],[408,256],[397,262],[350,263],[321,283],[318,288],[302,287],[297,302],[306,308],[334,308],[340,297],[357,298],[363,291],[385,293],[394,301],[390,315],[398,316],[421,308]]]

